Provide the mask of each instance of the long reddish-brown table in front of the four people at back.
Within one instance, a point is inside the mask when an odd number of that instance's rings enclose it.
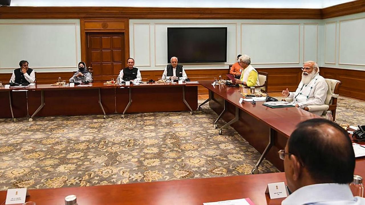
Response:
[[[0,118],[30,116],[106,115],[143,112],[193,112],[197,108],[197,83],[147,83],[80,86],[33,85],[0,87]]]

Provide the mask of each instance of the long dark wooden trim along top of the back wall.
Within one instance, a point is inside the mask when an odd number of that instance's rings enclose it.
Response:
[[[321,19],[321,9],[158,8],[158,7],[0,7],[0,19]]]

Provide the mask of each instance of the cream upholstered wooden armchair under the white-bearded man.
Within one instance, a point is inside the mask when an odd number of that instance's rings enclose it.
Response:
[[[327,90],[327,97],[326,100],[324,100],[324,105],[308,105],[306,107],[309,112],[315,112],[315,111],[323,111],[322,117],[326,116],[327,110],[332,111],[332,117],[333,120],[336,119],[336,108],[337,108],[337,98],[338,98],[338,92],[340,89],[340,86],[342,85],[341,81],[334,80],[334,79],[328,79],[325,78],[328,90]],[[292,101],[291,98],[285,98],[285,101],[290,102]],[[304,108],[304,109],[306,109]]]

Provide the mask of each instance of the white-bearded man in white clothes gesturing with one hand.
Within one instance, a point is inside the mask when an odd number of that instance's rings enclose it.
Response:
[[[283,97],[293,99],[295,107],[304,108],[308,105],[323,105],[326,100],[328,85],[326,80],[319,75],[319,67],[314,61],[304,62],[301,74],[301,81],[295,92],[289,92],[288,88],[283,90]],[[313,112],[322,115],[323,111]]]

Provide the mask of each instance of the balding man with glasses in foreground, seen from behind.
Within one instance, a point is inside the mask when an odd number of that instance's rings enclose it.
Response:
[[[355,154],[338,124],[322,118],[299,123],[279,156],[293,192],[281,205],[365,204],[364,198],[351,193]]]

